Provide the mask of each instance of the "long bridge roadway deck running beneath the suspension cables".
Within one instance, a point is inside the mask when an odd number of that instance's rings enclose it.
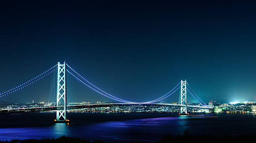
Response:
[[[82,105],[68,105],[67,110],[79,108],[97,108],[97,107],[118,107],[118,106],[168,106],[168,107],[182,107],[185,105],[180,104],[131,104],[131,103],[117,103],[117,104],[82,104]],[[212,107],[205,106],[191,106],[189,108],[205,108],[212,110]],[[22,113],[22,112],[41,112],[41,111],[56,111],[63,110],[64,106],[48,106],[48,107],[34,107],[34,108],[13,108],[13,109],[0,109],[0,113]]]

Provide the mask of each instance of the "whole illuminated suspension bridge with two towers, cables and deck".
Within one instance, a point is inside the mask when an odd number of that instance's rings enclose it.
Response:
[[[161,103],[177,91],[180,91],[178,104]],[[187,91],[200,106],[187,104]],[[82,94],[82,96],[77,96],[78,94]],[[95,104],[96,101],[102,102]],[[182,115],[188,114],[187,108],[213,109],[197,96],[186,80],[181,80],[172,90],[154,100],[128,101],[103,91],[66,62],[63,64],[58,62],[25,83],[0,93],[0,104],[0,113],[56,111],[56,122],[69,121],[67,120],[67,110],[79,108],[176,106],[180,108]],[[19,106],[16,106],[17,104]]]

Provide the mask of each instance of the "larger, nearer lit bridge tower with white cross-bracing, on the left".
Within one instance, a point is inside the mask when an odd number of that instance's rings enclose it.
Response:
[[[67,92],[66,92],[66,61],[64,64],[58,62],[57,73],[57,106],[63,106],[64,110],[58,110],[56,113],[56,122],[68,122],[67,120]]]

